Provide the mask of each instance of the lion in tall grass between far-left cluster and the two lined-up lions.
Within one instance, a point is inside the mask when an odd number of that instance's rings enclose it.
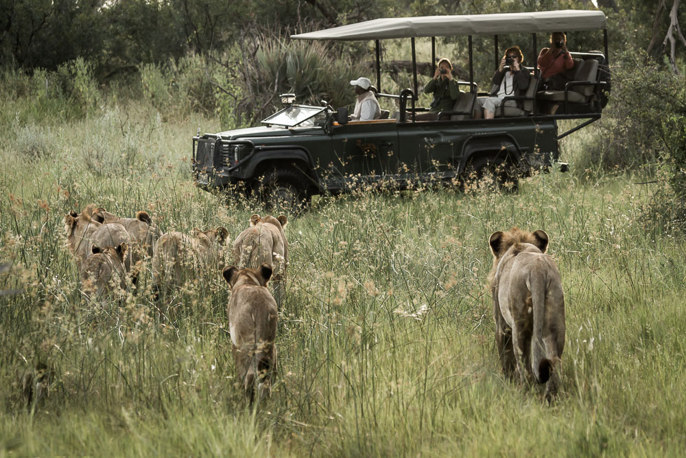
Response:
[[[156,242],[152,255],[152,286],[178,288],[193,281],[205,271],[224,268],[224,247],[228,238],[225,227],[209,231],[193,229],[164,233]]]

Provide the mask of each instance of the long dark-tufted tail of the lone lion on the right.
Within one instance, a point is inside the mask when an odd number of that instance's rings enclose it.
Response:
[[[546,344],[543,341],[545,328],[545,292],[547,279],[545,275],[532,275],[529,279],[531,291],[532,312],[534,315],[534,335],[531,343],[531,365],[534,376],[539,383],[545,383],[550,378],[553,361],[548,358]]]

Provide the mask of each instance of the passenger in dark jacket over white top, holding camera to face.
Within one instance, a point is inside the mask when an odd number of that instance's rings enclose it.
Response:
[[[493,88],[490,97],[477,98],[477,110],[474,111],[474,119],[481,119],[483,108],[484,119],[493,119],[495,111],[503,104],[506,97],[525,95],[529,87],[530,71],[521,66],[524,60],[519,46],[513,46],[505,51],[500,60],[498,69],[493,74]],[[521,106],[521,100],[507,100],[505,106]]]

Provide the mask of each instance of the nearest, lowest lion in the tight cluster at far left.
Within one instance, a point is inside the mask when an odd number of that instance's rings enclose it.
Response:
[[[102,297],[115,289],[126,290],[124,260],[128,247],[121,242],[116,248],[93,244],[81,269],[81,283],[88,297]]]

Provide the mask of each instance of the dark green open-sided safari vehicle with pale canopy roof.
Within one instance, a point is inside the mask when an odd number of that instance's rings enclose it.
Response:
[[[536,62],[538,34],[596,30],[604,36],[599,51],[572,53],[576,77],[565,91],[539,91],[539,71],[532,69],[522,108],[499,108],[495,119],[471,119],[477,95],[472,65],[472,36],[493,36],[495,67],[498,36],[531,33],[530,62]],[[418,101],[415,40],[431,38],[436,62],[436,36],[468,36],[469,81],[460,81],[460,97],[443,120],[414,121],[426,111]],[[265,199],[301,201],[312,194],[338,194],[355,186],[391,181],[407,187],[417,181],[460,181],[468,174],[493,176],[503,186],[517,187],[520,176],[547,169],[558,160],[558,140],[600,119],[609,91],[606,19],[601,11],[550,11],[465,16],[375,19],[318,32],[293,35],[297,40],[375,41],[377,98],[394,98],[399,111],[386,119],[348,122],[347,108],[294,103],[264,119],[262,126],[206,133],[193,137],[193,172],[205,189],[242,185]],[[410,38],[414,87],[399,94],[381,91],[379,41]],[[435,68],[435,67],[434,67]],[[487,88],[490,90],[490,87]],[[508,100],[506,98],[505,100]],[[560,108],[546,114],[549,103]],[[549,112],[548,112],[549,113]],[[558,119],[580,124],[558,133]]]

